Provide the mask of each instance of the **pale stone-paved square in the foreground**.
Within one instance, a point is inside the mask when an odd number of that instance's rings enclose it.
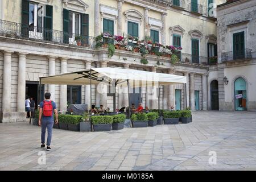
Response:
[[[256,113],[195,111],[193,122],[78,133],[53,129],[52,150],[40,127],[0,123],[0,170],[255,170]],[[39,152],[46,164],[38,164]],[[215,151],[216,164],[209,164]]]

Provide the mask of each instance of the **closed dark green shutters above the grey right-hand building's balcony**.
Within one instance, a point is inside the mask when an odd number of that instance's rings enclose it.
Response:
[[[233,34],[233,59],[245,58],[245,32]]]

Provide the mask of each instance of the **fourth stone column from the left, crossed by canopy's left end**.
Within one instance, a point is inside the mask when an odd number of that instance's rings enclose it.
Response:
[[[60,73],[67,73],[67,58],[60,58]],[[67,111],[67,85],[60,85],[60,111]]]

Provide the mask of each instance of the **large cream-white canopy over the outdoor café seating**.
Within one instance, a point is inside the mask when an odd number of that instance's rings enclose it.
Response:
[[[92,76],[90,77],[90,75]],[[90,85],[90,83],[100,84],[102,81],[109,82],[113,80],[117,84],[130,80],[131,86],[134,87],[146,86],[150,82],[159,82],[160,85],[187,83],[187,79],[184,76],[112,67],[92,68],[55,76],[40,77],[41,84],[54,85]]]

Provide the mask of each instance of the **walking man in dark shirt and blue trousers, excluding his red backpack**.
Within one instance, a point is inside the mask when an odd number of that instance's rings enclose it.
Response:
[[[58,123],[58,113],[56,109],[56,104],[55,102],[51,101],[51,93],[46,93],[44,94],[44,97],[46,98],[46,102],[51,102],[52,104],[52,112],[55,114],[55,123]],[[54,124],[54,119],[53,119],[53,113],[51,116],[44,116],[43,115],[43,106],[44,102],[40,102],[40,110],[39,110],[39,126],[42,126],[42,133],[41,133],[41,142],[42,148],[45,148],[46,145],[44,144],[46,140],[46,128],[47,128],[47,149],[46,150],[51,150],[51,140],[52,140],[52,127]]]

